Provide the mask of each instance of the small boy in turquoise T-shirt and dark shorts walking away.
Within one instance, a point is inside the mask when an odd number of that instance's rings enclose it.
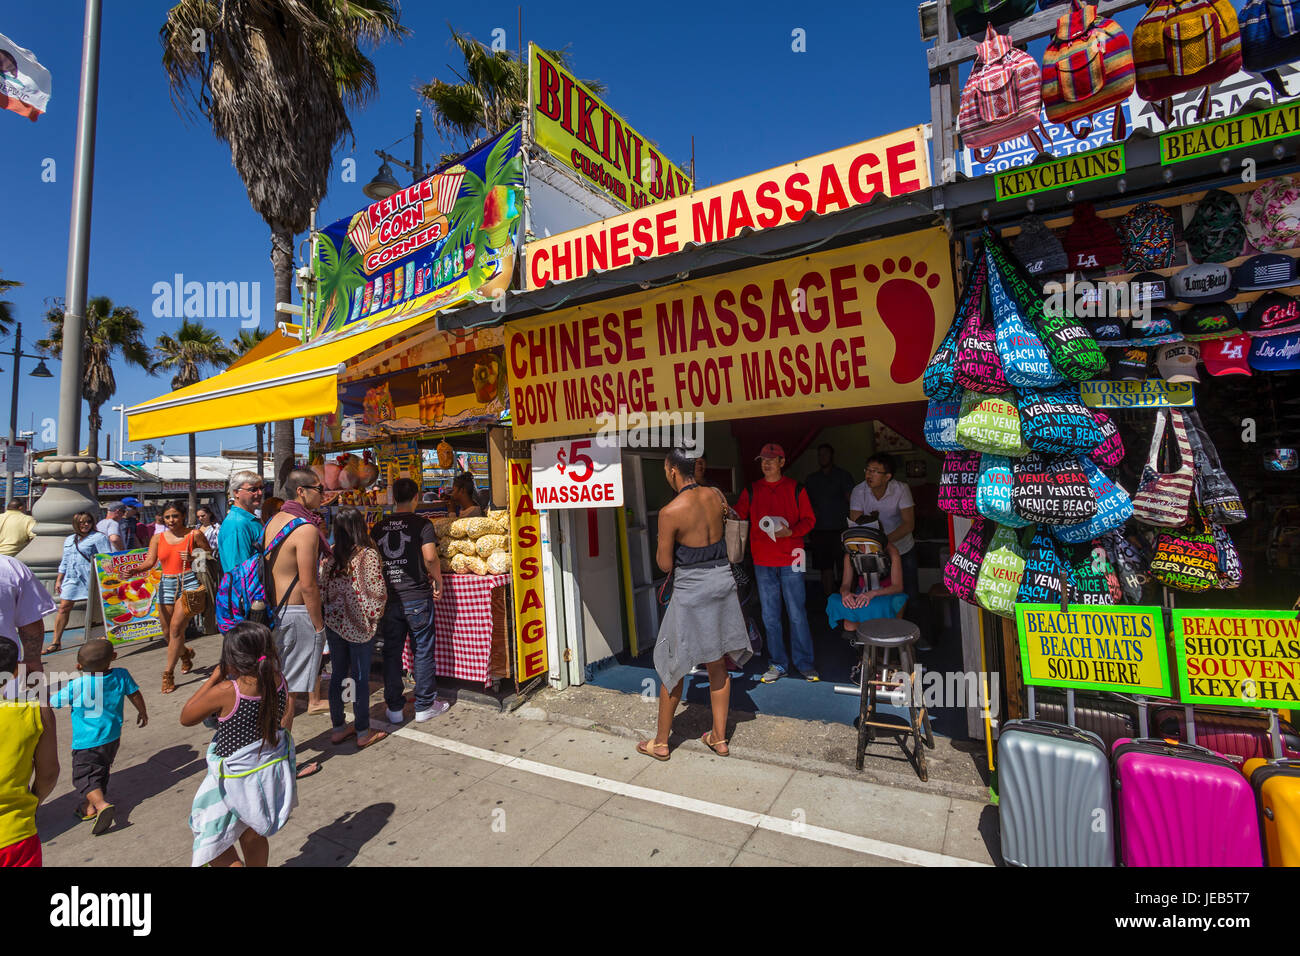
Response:
[[[113,805],[107,799],[108,771],[122,741],[125,701],[135,706],[136,726],[150,722],[140,688],[127,671],[112,666],[116,658],[109,641],[86,641],[77,652],[82,676],[60,688],[49,701],[53,708],[73,709],[73,786],[84,797],[73,813],[77,819],[95,821],[95,836],[113,826]]]

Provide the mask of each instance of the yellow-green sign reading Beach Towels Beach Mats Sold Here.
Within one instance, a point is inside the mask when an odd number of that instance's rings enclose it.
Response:
[[[1160,607],[1018,604],[1015,627],[1026,684],[1171,696]]]

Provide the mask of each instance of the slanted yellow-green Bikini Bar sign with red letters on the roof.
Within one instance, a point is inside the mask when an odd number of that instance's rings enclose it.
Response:
[[[528,44],[533,142],[629,209],[690,193],[677,166],[573,74]]]

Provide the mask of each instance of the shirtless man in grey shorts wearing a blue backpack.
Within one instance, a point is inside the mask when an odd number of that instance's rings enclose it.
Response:
[[[285,481],[290,499],[270,519],[263,533],[263,548],[270,549],[280,529],[290,522],[303,519],[285,538],[270,568],[272,580],[266,594],[268,607],[276,607],[285,594],[289,600],[276,620],[273,631],[280,669],[289,684],[289,693],[298,701],[307,695],[307,713],[322,713],[329,704],[320,698],[320,665],[325,650],[325,617],[321,610],[321,592],[316,568],[321,551],[321,519],[316,509],[324,502],[325,488],[313,471],[295,468]],[[328,545],[326,545],[328,548]],[[296,580],[295,580],[296,579]],[[299,777],[311,777],[320,770],[312,762],[299,769]]]

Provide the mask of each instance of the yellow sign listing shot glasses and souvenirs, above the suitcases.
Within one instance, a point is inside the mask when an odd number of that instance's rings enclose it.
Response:
[[[1175,610],[1174,654],[1184,704],[1300,705],[1296,611]]]

